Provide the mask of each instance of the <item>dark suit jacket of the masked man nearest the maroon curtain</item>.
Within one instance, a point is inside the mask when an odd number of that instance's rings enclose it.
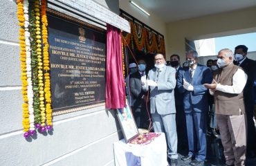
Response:
[[[134,99],[134,108],[145,106],[143,95],[147,95],[147,91],[144,91],[142,89],[140,78],[141,78],[141,75],[139,71],[130,75],[129,86],[130,86],[131,96]]]

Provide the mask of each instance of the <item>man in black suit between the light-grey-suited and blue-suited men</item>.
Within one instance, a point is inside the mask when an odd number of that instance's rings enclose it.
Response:
[[[183,70],[183,68],[180,66],[180,56],[176,54],[171,55],[170,65],[176,69],[176,80],[178,80],[178,73]],[[175,86],[174,98],[176,107],[178,149],[188,149],[187,127],[185,121],[185,112],[183,109],[183,93],[179,93],[178,86]]]

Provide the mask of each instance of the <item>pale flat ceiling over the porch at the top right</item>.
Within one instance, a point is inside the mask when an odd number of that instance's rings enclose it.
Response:
[[[256,0],[133,0],[163,21],[178,21],[256,6]]]

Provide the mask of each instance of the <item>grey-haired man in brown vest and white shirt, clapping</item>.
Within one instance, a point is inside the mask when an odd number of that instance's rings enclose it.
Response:
[[[218,54],[218,69],[211,84],[205,84],[215,98],[217,125],[221,133],[226,165],[244,165],[246,158],[246,116],[243,89],[247,75],[232,63],[232,50]],[[250,145],[252,146],[252,145]]]

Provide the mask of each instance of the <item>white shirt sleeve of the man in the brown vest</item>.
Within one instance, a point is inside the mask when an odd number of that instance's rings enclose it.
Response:
[[[224,93],[239,94],[243,91],[246,85],[247,75],[241,68],[237,69],[237,72],[232,77],[232,85],[217,84],[216,91],[222,91]],[[210,94],[214,92],[210,89]]]

